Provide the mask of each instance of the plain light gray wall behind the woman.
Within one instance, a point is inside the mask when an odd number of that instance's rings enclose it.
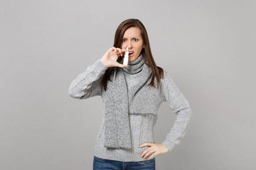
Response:
[[[67,88],[128,18],[144,23],[194,113],[157,169],[255,169],[255,16],[255,0],[0,0],[0,169],[92,169],[101,98]],[[175,114],[158,114],[161,143]]]

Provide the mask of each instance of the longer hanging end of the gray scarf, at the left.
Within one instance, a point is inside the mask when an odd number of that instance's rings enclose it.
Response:
[[[108,81],[105,107],[105,147],[130,149],[128,93],[124,73],[115,71]]]

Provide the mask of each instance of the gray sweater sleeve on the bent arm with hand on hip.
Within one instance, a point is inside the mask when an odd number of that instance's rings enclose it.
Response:
[[[188,101],[167,73],[164,73],[164,79],[162,80],[161,85],[161,94],[171,110],[177,114],[174,125],[171,128],[171,132],[166,135],[166,139],[163,142],[168,150],[171,151],[177,144],[180,144],[180,140],[184,137],[192,119],[192,111]]]

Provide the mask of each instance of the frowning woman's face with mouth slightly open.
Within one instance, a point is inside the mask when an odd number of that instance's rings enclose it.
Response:
[[[128,61],[133,62],[139,57],[142,48],[144,48],[144,43],[138,27],[130,27],[124,32],[121,49],[127,49],[127,47],[129,48]]]

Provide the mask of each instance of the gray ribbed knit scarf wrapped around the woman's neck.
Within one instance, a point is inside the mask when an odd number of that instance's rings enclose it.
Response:
[[[130,99],[123,71],[129,74],[141,71],[139,83],[129,91]],[[128,62],[127,68],[117,68],[112,73],[112,82],[108,81],[106,90],[105,147],[131,148],[129,113],[156,114],[157,89],[147,85],[150,76],[151,70],[144,63],[142,55],[134,62]]]

